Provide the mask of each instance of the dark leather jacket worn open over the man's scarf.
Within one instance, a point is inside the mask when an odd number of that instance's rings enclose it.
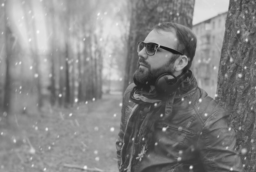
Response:
[[[116,142],[118,167],[126,124],[136,105],[129,100],[134,86],[130,84],[123,97]],[[171,102],[171,96],[167,98],[163,118],[155,123],[153,141],[155,146],[132,167],[132,172],[243,171],[229,114],[198,87],[192,72],[177,89],[174,102]]]

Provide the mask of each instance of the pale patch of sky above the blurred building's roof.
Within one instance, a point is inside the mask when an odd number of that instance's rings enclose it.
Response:
[[[228,11],[229,0],[195,0],[193,24]]]

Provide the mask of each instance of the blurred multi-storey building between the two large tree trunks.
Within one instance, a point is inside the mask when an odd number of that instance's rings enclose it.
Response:
[[[204,88],[208,95],[214,97],[217,89],[220,52],[225,33],[227,12],[193,25],[197,36],[197,49],[192,71],[198,81],[198,86]]]

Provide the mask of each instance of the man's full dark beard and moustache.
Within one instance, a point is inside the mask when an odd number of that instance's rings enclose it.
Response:
[[[159,66],[158,68],[151,69],[150,64],[144,60],[144,58],[139,58],[138,60],[138,69],[133,75],[133,81],[137,86],[148,87],[149,85],[155,85],[157,78],[164,73],[173,73],[174,72],[174,62],[175,58],[171,58],[168,63]],[[144,64],[147,68],[140,68],[139,63]]]

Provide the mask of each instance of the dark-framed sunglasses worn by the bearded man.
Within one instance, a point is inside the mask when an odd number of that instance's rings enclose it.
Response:
[[[142,49],[144,49],[145,46],[146,46],[146,53],[148,55],[154,55],[155,52],[157,52],[157,48],[164,49],[164,50],[169,51],[169,52],[171,52],[173,54],[183,55],[183,53],[181,53],[180,51],[177,51],[175,49],[171,49],[171,48],[168,48],[166,46],[158,45],[158,44],[156,44],[154,42],[145,43],[143,41],[139,41],[137,43],[137,52],[139,53]]]

